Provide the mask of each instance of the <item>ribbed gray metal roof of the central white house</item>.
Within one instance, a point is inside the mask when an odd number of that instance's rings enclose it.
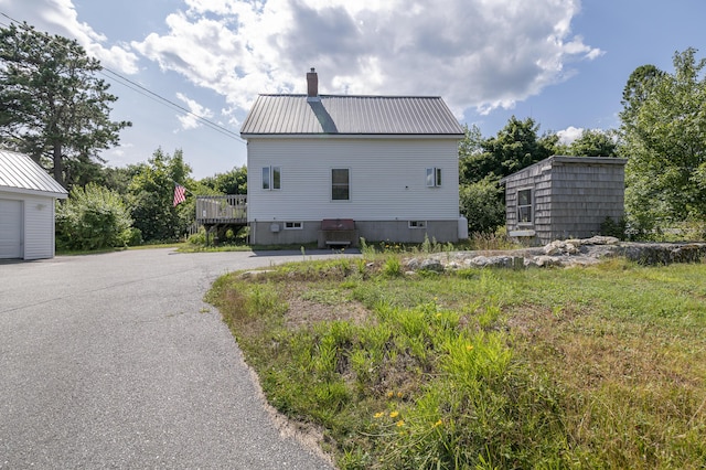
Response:
[[[461,138],[440,97],[259,95],[240,135],[422,135]]]

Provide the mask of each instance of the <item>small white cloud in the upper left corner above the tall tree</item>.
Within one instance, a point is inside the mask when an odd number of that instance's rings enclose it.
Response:
[[[78,14],[72,0],[0,0],[0,6],[10,7],[11,17],[18,21],[32,19],[31,24],[39,31],[75,39],[86,52],[111,70],[125,74],[138,72],[138,56],[129,45],[106,45],[107,38],[85,22],[78,21]]]

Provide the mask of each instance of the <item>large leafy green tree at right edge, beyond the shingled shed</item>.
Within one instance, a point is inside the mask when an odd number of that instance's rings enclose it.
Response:
[[[623,93],[627,209],[645,233],[706,217],[706,60],[675,53],[674,73],[639,67]]]

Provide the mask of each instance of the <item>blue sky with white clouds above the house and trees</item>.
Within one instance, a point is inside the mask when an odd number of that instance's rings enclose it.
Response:
[[[236,133],[258,93],[304,93],[315,67],[322,94],[441,96],[484,137],[515,115],[571,139],[619,126],[638,66],[706,56],[703,0],[0,0],[0,13]],[[158,147],[182,149],[195,178],[245,163],[239,139],[108,81],[113,118],[133,122],[109,165]]]

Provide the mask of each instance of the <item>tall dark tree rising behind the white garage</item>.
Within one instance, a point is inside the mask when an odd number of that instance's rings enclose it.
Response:
[[[26,23],[1,28],[0,141],[46,165],[64,185],[79,181],[130,126],[110,120],[117,97],[96,76],[100,70],[76,41]]]

